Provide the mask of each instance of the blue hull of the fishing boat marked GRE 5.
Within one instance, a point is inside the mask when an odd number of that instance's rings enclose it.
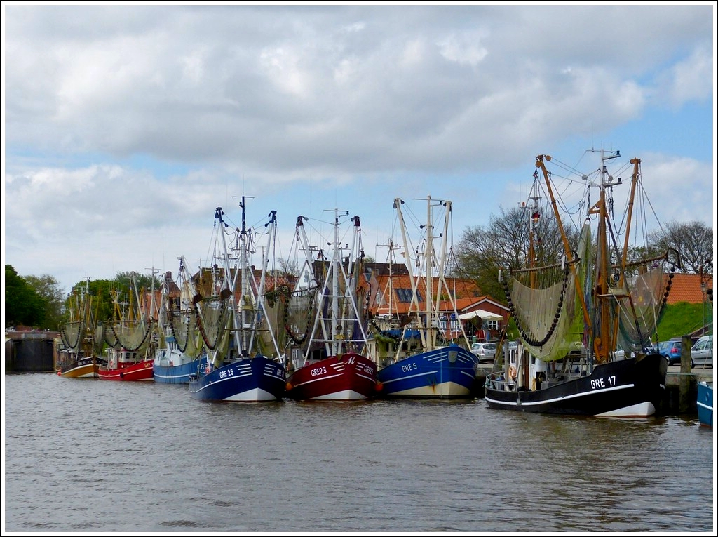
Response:
[[[476,380],[476,357],[462,346],[414,354],[377,372],[381,398],[468,398]]]

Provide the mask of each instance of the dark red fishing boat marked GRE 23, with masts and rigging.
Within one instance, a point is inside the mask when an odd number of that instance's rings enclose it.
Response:
[[[376,362],[365,354],[365,314],[357,299],[363,260],[361,223],[358,216],[348,216],[348,211],[334,209],[334,236],[327,242],[331,257],[320,250],[316,261],[312,259],[316,249],[309,245],[304,229],[308,219],[297,218],[293,249],[304,252],[301,272],[308,281],[299,278],[300,288],[294,289],[288,306],[287,330],[295,343],[304,344],[297,364],[292,361],[289,366],[286,382],[286,394],[294,400],[366,400],[376,395]],[[347,222],[350,243],[342,247],[340,228]],[[306,323],[304,334],[298,334],[297,323]]]

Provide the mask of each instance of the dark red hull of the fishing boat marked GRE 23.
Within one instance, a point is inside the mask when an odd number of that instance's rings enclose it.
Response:
[[[289,377],[286,394],[294,400],[348,401],[376,395],[376,364],[348,352],[300,367]]]

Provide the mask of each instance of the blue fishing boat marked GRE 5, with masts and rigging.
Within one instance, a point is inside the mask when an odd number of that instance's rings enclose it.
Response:
[[[404,239],[404,260],[411,290],[409,310],[397,339],[396,354],[381,362],[377,372],[382,398],[469,398],[475,385],[478,360],[457,311],[455,293],[447,280],[452,202],[426,198],[426,221],[420,226],[420,245],[411,244],[402,209],[394,200]],[[443,215],[434,213],[440,209]],[[434,229],[434,218],[443,229]],[[440,237],[437,248],[434,238]],[[423,282],[423,288],[420,283]],[[405,294],[407,294],[405,293]],[[443,297],[443,300],[442,300]]]

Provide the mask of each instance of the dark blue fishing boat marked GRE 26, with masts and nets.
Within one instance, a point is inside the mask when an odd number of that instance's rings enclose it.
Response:
[[[268,256],[276,239],[276,211],[271,211],[264,225],[267,244],[257,280],[249,255],[255,251],[259,232],[246,225],[245,196],[240,206],[241,228],[234,229],[231,250],[225,213],[221,207],[215,209],[213,244],[219,248],[215,258],[222,267],[209,267],[209,287],[197,289],[192,298],[197,328],[209,357],[205,367],[190,375],[190,395],[197,400],[261,403],[284,397],[284,354],[273,327],[266,322],[264,298]]]

